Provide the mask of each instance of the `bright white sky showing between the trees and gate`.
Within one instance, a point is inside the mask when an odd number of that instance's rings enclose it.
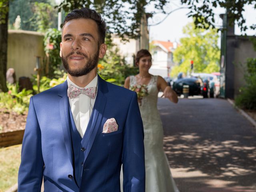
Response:
[[[166,12],[170,12],[180,6],[180,0],[170,0],[170,3],[166,6]],[[156,26],[149,26],[150,41],[152,40],[162,40],[162,41],[178,41],[180,38],[184,37],[182,34],[182,28],[192,22],[192,18],[188,18],[186,14],[189,12],[188,9],[180,9],[171,13],[162,23]],[[224,9],[218,8],[216,13],[224,13]],[[218,17],[215,18],[219,25],[222,25],[222,19]],[[152,19],[148,20],[148,24],[156,24],[166,17],[164,14],[156,14]],[[244,17],[246,18],[246,24],[251,25],[256,23],[256,10],[252,6],[246,6]],[[247,30],[247,35],[256,35],[256,30]],[[235,34],[240,35],[240,29],[238,26],[235,27]]]

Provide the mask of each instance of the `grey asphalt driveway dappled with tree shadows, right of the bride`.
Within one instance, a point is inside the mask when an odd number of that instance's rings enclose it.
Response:
[[[256,192],[256,128],[224,99],[159,98],[180,192]]]

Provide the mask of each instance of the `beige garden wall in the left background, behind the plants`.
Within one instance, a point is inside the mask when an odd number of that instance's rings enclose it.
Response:
[[[14,68],[16,80],[21,76],[37,74],[36,57],[43,64],[44,34],[24,30],[8,30],[7,69]]]

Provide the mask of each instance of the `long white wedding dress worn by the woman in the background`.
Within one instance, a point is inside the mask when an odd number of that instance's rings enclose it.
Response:
[[[179,192],[163,150],[164,133],[157,109],[157,78],[158,76],[151,77],[147,86],[149,94],[142,99],[140,105],[144,126],[146,192]],[[136,77],[130,76],[130,87],[136,84]]]

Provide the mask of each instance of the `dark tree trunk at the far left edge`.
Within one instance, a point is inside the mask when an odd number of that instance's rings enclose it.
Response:
[[[8,4],[8,1],[6,2]],[[9,5],[9,4],[8,4]],[[0,91],[7,92],[6,70],[7,70],[7,40],[8,40],[8,12],[5,22],[0,24]]]

